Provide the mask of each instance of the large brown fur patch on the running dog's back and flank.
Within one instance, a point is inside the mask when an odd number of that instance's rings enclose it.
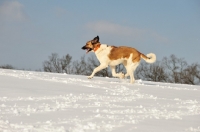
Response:
[[[141,53],[137,51],[135,48],[126,47],[126,46],[112,47],[112,50],[110,54],[108,55],[108,57],[110,60],[117,60],[120,58],[128,59],[131,54],[133,54],[132,56],[133,62],[140,61]]]

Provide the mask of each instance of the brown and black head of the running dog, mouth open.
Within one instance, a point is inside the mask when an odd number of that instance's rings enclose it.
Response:
[[[94,50],[95,46],[99,44],[99,36],[96,36],[93,40],[88,41],[85,46],[82,47],[83,50],[87,50],[86,53]]]

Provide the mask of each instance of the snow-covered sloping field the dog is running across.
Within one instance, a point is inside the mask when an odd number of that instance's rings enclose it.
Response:
[[[200,132],[200,86],[0,69],[0,132]]]

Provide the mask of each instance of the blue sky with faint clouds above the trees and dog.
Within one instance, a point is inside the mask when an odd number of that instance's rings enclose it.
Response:
[[[200,63],[198,0],[1,0],[0,65],[42,69],[48,56],[90,56],[81,49],[100,42],[134,47],[157,60],[174,54]]]

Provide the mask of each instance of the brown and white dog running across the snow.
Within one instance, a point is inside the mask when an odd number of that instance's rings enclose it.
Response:
[[[91,79],[95,73],[110,66],[113,77],[124,78],[130,76],[130,83],[134,83],[134,71],[139,65],[140,59],[144,59],[147,63],[154,63],[156,61],[156,55],[154,53],[149,53],[144,55],[137,51],[135,48],[126,46],[108,46],[106,44],[101,44],[99,42],[99,36],[90,40],[82,47],[83,50],[95,52],[100,65],[96,67],[92,74],[88,77]],[[123,63],[126,68],[127,73],[116,73],[115,66]]]

